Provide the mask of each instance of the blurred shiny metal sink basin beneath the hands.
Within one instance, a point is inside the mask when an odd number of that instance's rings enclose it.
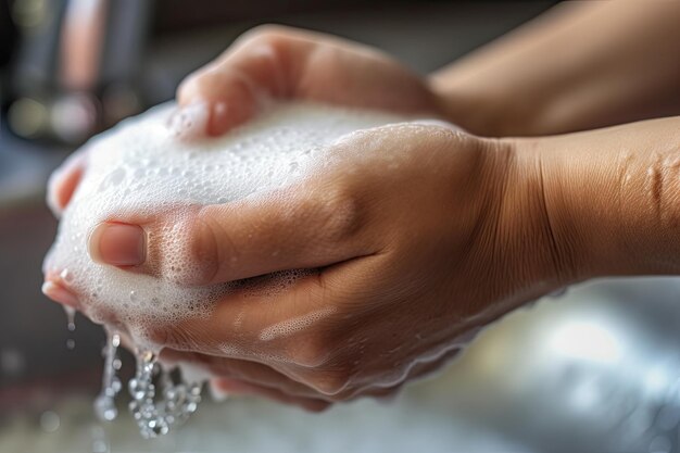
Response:
[[[395,401],[320,415],[249,398],[206,401],[151,441],[125,411],[97,423],[96,386],[43,387],[3,418],[0,452],[677,452],[679,290],[676,278],[572,288],[506,316]]]

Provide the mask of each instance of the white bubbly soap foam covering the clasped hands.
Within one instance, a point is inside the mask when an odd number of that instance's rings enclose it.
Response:
[[[200,266],[186,259],[187,231],[180,219],[188,210],[293,184],[323,161],[324,151],[342,136],[402,119],[377,112],[287,103],[272,106],[224,137],[184,140],[167,126],[174,111],[172,104],[158,106],[86,146],[87,172],[63,213],[46,260],[48,269],[60,273],[78,295],[87,316],[105,324],[112,335],[125,332],[133,339],[140,354],[138,375],[149,370],[161,347],[151,336],[152,328],[210,316],[215,301],[230,289],[230,284],[204,288],[181,284]],[[159,241],[165,255],[149,257],[153,276],[90,259],[87,240],[99,223],[143,223],[159,214],[166,223],[148,241]],[[290,282],[291,276],[295,274],[275,278]],[[299,329],[298,324],[279,327]],[[272,335],[286,335],[280,328]],[[117,392],[110,393],[113,398]],[[154,435],[153,430],[148,435]]]

